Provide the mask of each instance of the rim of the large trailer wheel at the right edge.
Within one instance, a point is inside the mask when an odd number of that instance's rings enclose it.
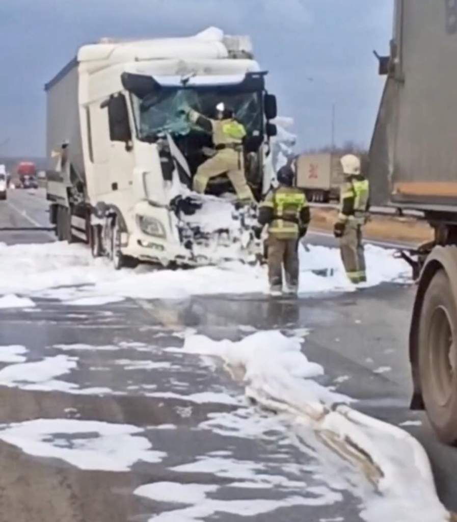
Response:
[[[453,390],[455,341],[451,325],[448,310],[438,306],[430,319],[428,357],[432,386],[440,406],[449,403]]]

